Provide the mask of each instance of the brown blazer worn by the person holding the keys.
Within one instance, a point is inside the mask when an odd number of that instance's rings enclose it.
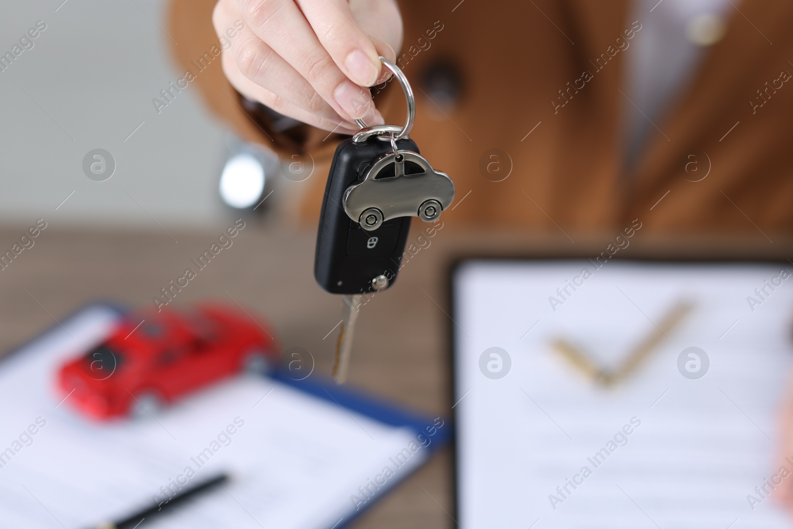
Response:
[[[400,65],[416,92],[411,137],[433,167],[454,179],[458,207],[443,215],[451,225],[604,232],[639,219],[642,232],[662,235],[791,235],[793,83],[781,79],[793,72],[793,2],[729,7],[726,35],[656,122],[662,132],[652,133],[632,174],[623,171],[618,90],[630,48],[611,56],[617,37],[631,29],[627,0],[458,2],[400,2]],[[171,4],[170,32],[183,68],[194,70],[190,61],[217,44],[214,3]],[[597,62],[602,54],[609,54],[607,63]],[[438,64],[458,72],[452,105],[428,96],[435,92],[424,79]],[[580,80],[584,71],[592,79]],[[266,117],[243,112],[220,59],[194,84],[241,136],[282,153],[312,154],[316,171],[301,208],[313,222],[329,157],[343,136],[324,140],[327,132],[307,126],[277,134]],[[376,96],[386,122],[404,122],[403,98],[396,83]],[[490,157],[492,149],[508,159]],[[508,178],[485,178],[488,163],[504,174],[509,159]]]

